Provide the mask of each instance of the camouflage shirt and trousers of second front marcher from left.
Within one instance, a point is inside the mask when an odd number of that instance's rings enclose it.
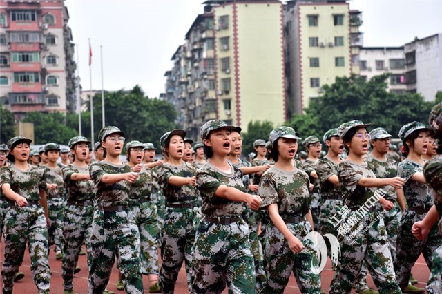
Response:
[[[83,240],[88,253],[88,268],[92,266],[93,249],[90,244],[94,207],[95,186],[91,180],[71,180],[73,174],[89,174],[89,167],[73,163],[63,168],[63,178],[68,191],[63,222],[63,262],[61,264],[63,286],[73,289],[73,276]]]

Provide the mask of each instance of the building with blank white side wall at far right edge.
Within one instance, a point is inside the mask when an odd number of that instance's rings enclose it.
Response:
[[[442,91],[442,34],[407,43],[404,52],[407,92],[434,101],[437,91]]]

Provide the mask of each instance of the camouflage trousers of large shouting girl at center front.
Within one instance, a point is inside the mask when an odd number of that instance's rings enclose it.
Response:
[[[244,220],[213,224],[201,220],[195,237],[192,294],[255,293],[255,266]]]

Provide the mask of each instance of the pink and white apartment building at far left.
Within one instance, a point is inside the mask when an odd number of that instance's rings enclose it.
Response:
[[[0,0],[0,103],[26,112],[75,111],[75,62],[64,1]]]

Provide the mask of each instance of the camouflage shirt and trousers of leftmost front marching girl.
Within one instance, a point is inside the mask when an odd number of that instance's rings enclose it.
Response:
[[[1,271],[3,293],[12,293],[14,277],[23,262],[26,243],[30,251],[30,269],[39,294],[49,293],[48,229],[44,209],[39,204],[39,191],[46,190],[46,173],[33,165],[27,171],[10,165],[1,169],[1,183],[10,184],[15,193],[28,201],[26,207],[10,202],[10,207],[6,209],[5,260]]]

